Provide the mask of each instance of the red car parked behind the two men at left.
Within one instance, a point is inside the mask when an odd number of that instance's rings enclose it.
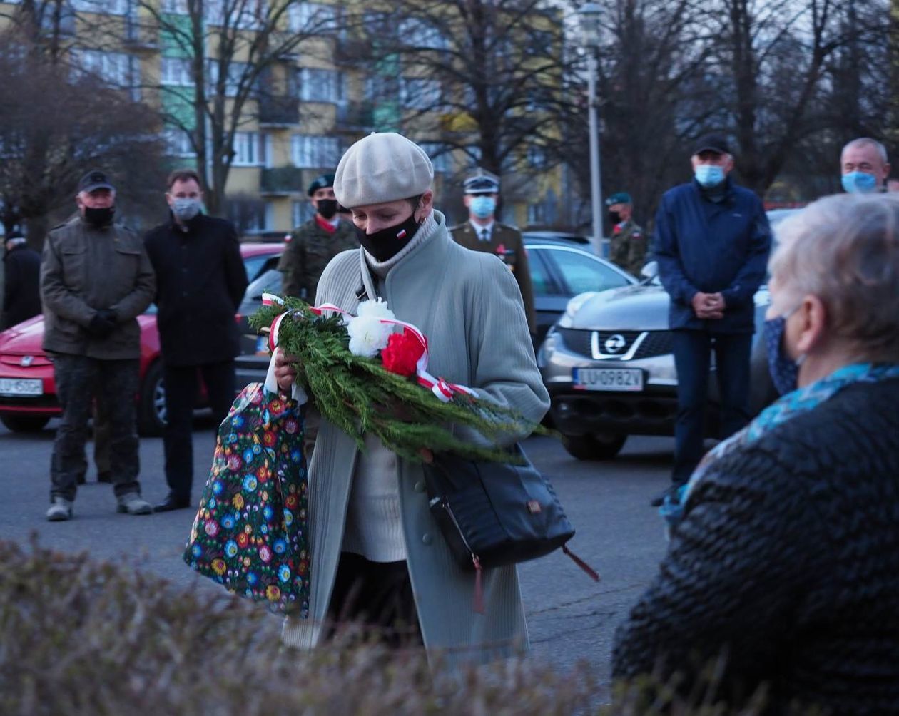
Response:
[[[243,243],[246,276],[251,281],[273,269],[283,243]],[[140,386],[138,431],[161,435],[165,426],[165,389],[159,359],[156,305],[138,316],[140,324]],[[40,348],[43,316],[19,323],[0,333],[0,421],[11,430],[40,430],[61,412],[53,379],[53,364]]]

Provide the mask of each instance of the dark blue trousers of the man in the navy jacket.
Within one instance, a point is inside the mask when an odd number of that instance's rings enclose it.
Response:
[[[687,482],[702,459],[708,400],[708,370],[715,351],[721,398],[719,437],[729,438],[749,422],[751,333],[711,334],[672,331],[677,367],[677,418],[674,422],[673,482]]]

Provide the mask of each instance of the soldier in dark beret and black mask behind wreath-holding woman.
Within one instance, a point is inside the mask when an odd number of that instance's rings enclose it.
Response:
[[[316,216],[290,233],[290,243],[281,255],[278,270],[284,274],[282,292],[299,296],[310,304],[322,271],[338,253],[358,249],[359,240],[352,223],[337,215],[334,174],[322,174],[309,184],[309,201]]]

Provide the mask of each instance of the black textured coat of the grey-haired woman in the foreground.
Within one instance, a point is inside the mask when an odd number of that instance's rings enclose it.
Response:
[[[619,628],[613,676],[723,649],[722,696],[770,685],[840,716],[899,713],[899,380],[850,386],[714,464]]]

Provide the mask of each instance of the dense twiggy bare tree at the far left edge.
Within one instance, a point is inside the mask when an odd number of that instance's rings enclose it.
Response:
[[[26,0],[0,37],[0,217],[27,225],[40,249],[50,221],[74,207],[76,183],[92,166],[114,176],[132,216],[162,164],[155,115],[120,88],[73,63],[77,49],[60,0]]]

